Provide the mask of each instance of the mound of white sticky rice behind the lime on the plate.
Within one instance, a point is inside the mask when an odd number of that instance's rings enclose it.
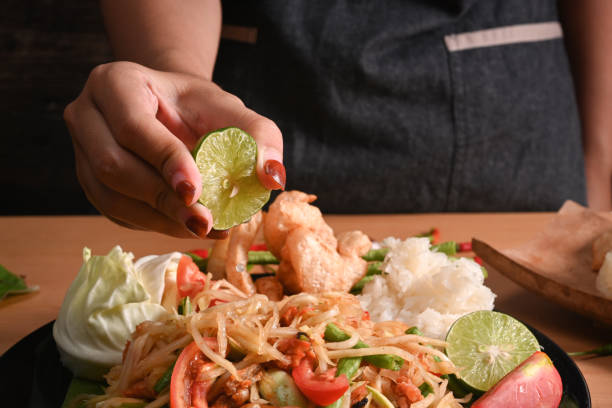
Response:
[[[427,238],[387,238],[381,246],[389,248],[383,274],[359,296],[372,320],[404,321],[443,339],[459,317],[493,309],[495,294],[473,260],[432,251]]]

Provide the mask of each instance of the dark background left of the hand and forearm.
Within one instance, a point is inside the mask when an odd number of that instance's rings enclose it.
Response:
[[[97,1],[6,0],[0,12],[0,215],[94,214],[62,114],[112,59]]]

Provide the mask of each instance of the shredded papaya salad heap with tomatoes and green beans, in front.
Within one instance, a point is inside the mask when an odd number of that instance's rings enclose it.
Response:
[[[441,351],[444,341],[406,334],[405,323],[374,323],[347,293],[270,301],[209,276],[181,309],[138,325],[123,362],[106,375],[106,393],[83,396],[87,407],[341,408],[373,400],[418,408],[466,401],[441,377],[455,372]]]

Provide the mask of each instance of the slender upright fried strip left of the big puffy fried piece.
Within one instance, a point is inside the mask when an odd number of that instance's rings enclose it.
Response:
[[[263,215],[259,211],[251,217],[249,222],[234,227],[229,238],[225,276],[229,283],[247,295],[255,294],[255,285],[251,275],[247,272],[247,263],[249,248],[257,236],[262,220]]]

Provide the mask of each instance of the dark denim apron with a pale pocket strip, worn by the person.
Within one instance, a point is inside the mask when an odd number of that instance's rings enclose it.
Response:
[[[555,0],[225,1],[223,12],[214,80],[276,122],[287,188],[324,212],[586,202]]]

